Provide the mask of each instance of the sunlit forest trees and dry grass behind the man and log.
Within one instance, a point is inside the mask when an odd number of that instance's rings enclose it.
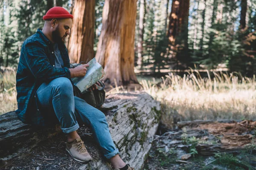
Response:
[[[21,45],[53,6],[74,16],[70,61],[96,57],[108,94],[140,83],[172,123],[256,117],[256,0],[0,0],[0,113],[17,109]]]

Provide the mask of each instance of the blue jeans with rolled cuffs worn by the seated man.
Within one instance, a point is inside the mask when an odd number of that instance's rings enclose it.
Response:
[[[79,124],[89,125],[107,159],[119,154],[104,113],[74,96],[69,79],[60,77],[51,82],[44,82],[36,93],[39,107],[47,108],[47,115],[52,119],[57,117],[64,133],[78,130]]]

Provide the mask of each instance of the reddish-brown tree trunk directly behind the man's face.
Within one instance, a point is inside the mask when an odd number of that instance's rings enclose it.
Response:
[[[95,0],[75,0],[68,51],[70,62],[93,59]]]

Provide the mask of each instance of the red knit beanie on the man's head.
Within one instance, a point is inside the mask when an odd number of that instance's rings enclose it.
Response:
[[[62,8],[61,6],[55,6],[47,11],[47,13],[43,17],[43,20],[49,20],[53,18],[73,19],[73,15],[71,15],[65,8]]]

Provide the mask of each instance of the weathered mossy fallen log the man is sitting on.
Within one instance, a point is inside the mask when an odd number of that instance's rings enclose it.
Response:
[[[160,103],[146,93],[111,94],[102,111],[121,158],[140,170],[158,127]],[[5,113],[0,116],[0,169],[110,170],[89,128],[81,127],[79,134],[93,157],[89,164],[73,161],[64,151],[66,139],[59,126],[33,127],[20,122],[14,111]]]

